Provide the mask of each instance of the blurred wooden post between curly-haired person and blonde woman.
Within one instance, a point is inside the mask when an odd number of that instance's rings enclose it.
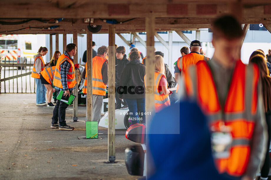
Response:
[[[155,18],[153,16],[146,17],[146,32],[147,32],[147,61],[146,61],[146,89],[153,90],[155,87],[155,79],[154,79],[154,71],[155,71],[155,61],[154,61],[154,33],[155,33]],[[151,87],[151,88],[148,88]],[[146,115],[146,134],[148,134],[148,126],[151,124],[151,119],[155,114],[155,101],[154,101],[154,92],[145,93],[145,101],[146,101],[146,113],[150,115]],[[148,138],[147,142],[148,144]],[[147,150],[148,151],[148,150]],[[148,153],[149,154],[149,153]],[[150,156],[147,154],[146,164],[148,164],[148,160]],[[147,168],[147,167],[146,167]],[[143,175],[148,175],[151,173],[151,169],[148,169],[148,172]]]

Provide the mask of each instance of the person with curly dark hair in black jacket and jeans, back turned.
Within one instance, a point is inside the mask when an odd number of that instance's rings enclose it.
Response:
[[[146,67],[144,64],[141,64],[141,56],[138,51],[131,52],[129,57],[130,63],[126,64],[120,75],[118,96],[120,99],[125,99],[132,124],[138,123],[138,120],[141,120],[141,123],[145,123],[144,76]]]

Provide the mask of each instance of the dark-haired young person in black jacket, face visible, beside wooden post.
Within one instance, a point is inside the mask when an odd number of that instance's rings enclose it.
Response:
[[[116,106],[115,109],[120,109],[121,108],[121,100],[118,98],[118,89],[120,86],[120,75],[125,68],[126,64],[129,63],[129,60],[126,58],[127,56],[125,55],[125,47],[120,46],[117,47],[116,49],[116,60],[115,60],[115,88],[116,88],[116,94],[115,94],[115,99],[116,99]],[[123,101],[123,104],[126,105],[126,102]]]

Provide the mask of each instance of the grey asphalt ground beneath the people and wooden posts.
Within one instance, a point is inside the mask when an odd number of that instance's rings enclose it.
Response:
[[[116,163],[108,164],[107,128],[102,139],[85,136],[86,106],[78,106],[73,123],[72,106],[66,121],[75,130],[50,128],[53,108],[36,105],[36,94],[0,94],[0,179],[140,179],[128,174],[125,149],[137,143],[116,130]],[[79,138],[78,138],[79,137]]]

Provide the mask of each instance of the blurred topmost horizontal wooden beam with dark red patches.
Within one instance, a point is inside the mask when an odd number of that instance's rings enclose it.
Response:
[[[1,1],[0,11],[1,18],[144,18],[151,14],[161,18],[216,18],[221,14],[232,12],[228,6],[228,2],[236,2],[236,0],[219,0],[219,1],[86,1],[84,4],[77,5],[75,0],[60,0],[60,1],[31,1],[28,3],[12,3],[13,1]],[[118,9],[118,4],[124,4],[126,11]],[[235,3],[236,4],[236,3]],[[236,8],[237,11],[244,11],[244,17],[267,17],[270,13],[265,12],[265,6],[270,4],[270,1],[265,0],[264,3],[258,1],[249,3],[247,1],[239,1]],[[114,7],[114,5],[117,7]],[[202,6],[204,8],[202,8]],[[44,9],[44,7],[47,7]],[[76,7],[76,8],[75,8]],[[185,7],[186,11],[176,11],[175,7]],[[205,8],[207,7],[207,9]],[[209,9],[208,9],[209,7]],[[211,9],[212,8],[212,9]],[[254,11],[255,8],[257,11]],[[12,9],[12,11],[10,11]],[[175,8],[176,9],[176,8]],[[27,11],[26,11],[27,10]],[[31,10],[31,11],[30,11]],[[173,13],[172,13],[173,12]],[[249,14],[250,12],[250,14]],[[256,16],[255,16],[256,15]]]

